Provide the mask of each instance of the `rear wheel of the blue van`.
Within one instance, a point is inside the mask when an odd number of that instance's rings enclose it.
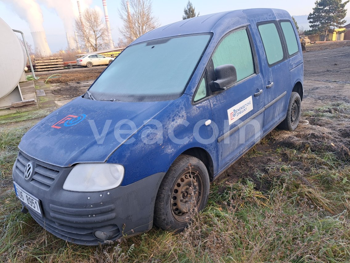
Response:
[[[289,99],[286,119],[277,128],[280,130],[293,131],[298,127],[301,116],[301,99],[297,92],[292,92]]]

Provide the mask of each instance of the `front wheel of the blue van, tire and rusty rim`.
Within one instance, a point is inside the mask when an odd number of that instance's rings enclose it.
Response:
[[[203,162],[193,156],[180,155],[160,184],[154,225],[164,230],[184,230],[190,221],[189,211],[201,211],[207,205],[209,184],[208,170]]]

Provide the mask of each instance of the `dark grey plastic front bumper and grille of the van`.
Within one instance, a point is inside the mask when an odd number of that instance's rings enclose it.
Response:
[[[33,163],[34,173],[25,180],[24,169],[29,161]],[[152,228],[154,202],[165,173],[108,191],[82,193],[62,188],[71,169],[40,162],[21,152],[16,159],[13,180],[41,200],[43,217],[27,209],[44,229],[72,243],[97,245],[103,240],[93,233],[106,227],[113,229],[110,240]]]

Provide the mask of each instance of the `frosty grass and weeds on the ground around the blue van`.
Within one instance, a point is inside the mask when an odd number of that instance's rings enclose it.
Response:
[[[350,104],[303,112],[296,131],[274,130],[211,185],[209,203],[180,234],[83,247],[43,230],[12,186],[21,136],[0,132],[0,261],[350,262]]]

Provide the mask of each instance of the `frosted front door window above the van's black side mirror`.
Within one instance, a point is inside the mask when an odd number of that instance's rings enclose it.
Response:
[[[255,73],[252,49],[246,29],[235,31],[226,36],[212,57],[214,68],[232,64],[237,71],[237,81]]]

